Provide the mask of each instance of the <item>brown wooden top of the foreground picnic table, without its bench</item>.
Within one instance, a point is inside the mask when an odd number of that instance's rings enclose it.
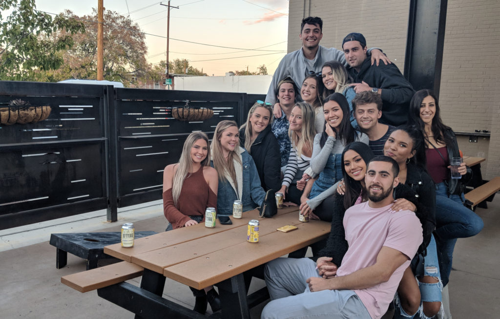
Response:
[[[260,222],[257,243],[246,241],[250,219]],[[201,289],[325,238],[330,231],[329,222],[298,221],[298,207],[278,209],[271,218],[258,217],[255,209],[231,220],[232,225],[217,220],[214,228],[201,223],[138,238],[129,248],[105,246],[104,252]],[[276,230],[284,225],[298,229]]]

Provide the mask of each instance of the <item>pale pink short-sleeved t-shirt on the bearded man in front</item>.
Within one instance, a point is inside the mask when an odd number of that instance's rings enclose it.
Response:
[[[390,206],[371,208],[366,201],[347,209],[343,219],[349,248],[337,270],[338,276],[375,264],[382,246],[397,249],[408,257],[387,282],[354,290],[372,318],[380,318],[387,311],[404,269],[422,243],[422,226],[415,213],[410,210],[389,213]]]

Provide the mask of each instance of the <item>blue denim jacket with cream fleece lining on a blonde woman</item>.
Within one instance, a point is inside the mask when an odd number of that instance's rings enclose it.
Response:
[[[243,147],[240,147],[239,155],[241,156],[242,174],[238,174],[236,171],[236,178],[241,178],[241,180],[238,180],[238,183],[242,185],[241,198],[239,199],[243,202],[243,211],[246,211],[262,204],[265,191],[260,185],[257,168],[250,154]],[[210,161],[210,165],[213,167],[213,161]],[[217,190],[218,215],[232,214],[232,203],[238,199],[236,191],[227,179],[224,181],[219,180]]]

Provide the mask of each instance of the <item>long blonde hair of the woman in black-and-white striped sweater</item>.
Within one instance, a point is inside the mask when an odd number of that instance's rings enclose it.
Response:
[[[296,149],[297,157],[302,155],[302,148],[304,145],[307,145],[312,150],[312,143],[314,142],[314,136],[316,135],[316,128],[314,126],[316,120],[316,113],[312,108],[311,104],[307,102],[296,102],[293,107],[299,107],[302,112],[302,128],[301,136],[298,137],[297,133],[294,130],[291,130],[288,127],[288,136],[290,137],[290,141]]]

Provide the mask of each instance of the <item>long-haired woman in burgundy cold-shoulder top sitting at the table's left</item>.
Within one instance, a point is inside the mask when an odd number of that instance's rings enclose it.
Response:
[[[202,132],[187,136],[179,162],[163,170],[163,213],[169,224],[165,230],[202,222],[206,207],[217,207],[217,171],[210,167],[208,137]],[[191,288],[196,303],[194,310],[205,313],[207,302],[212,311],[220,309],[213,286]]]

